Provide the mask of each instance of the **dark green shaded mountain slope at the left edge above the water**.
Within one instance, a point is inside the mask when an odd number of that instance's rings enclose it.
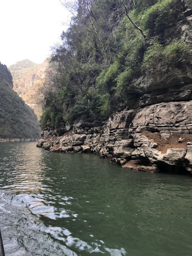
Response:
[[[37,116],[12,88],[10,71],[0,62],[0,138],[38,139]]]

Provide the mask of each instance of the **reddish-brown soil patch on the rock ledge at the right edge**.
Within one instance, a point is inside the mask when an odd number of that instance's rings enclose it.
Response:
[[[168,140],[161,138],[160,133],[152,133],[150,131],[144,131],[141,135],[145,135],[149,140],[153,139],[158,147],[156,148],[158,151],[161,151],[161,154],[167,152],[167,149],[187,149],[187,142],[192,141],[192,134],[174,134],[170,135]],[[184,139],[182,143],[179,143],[179,138]]]

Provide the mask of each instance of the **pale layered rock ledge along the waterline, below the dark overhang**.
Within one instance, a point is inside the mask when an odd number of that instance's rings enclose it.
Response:
[[[64,129],[60,137],[57,129],[44,129],[37,146],[95,153],[134,170],[192,173],[192,101],[126,108],[105,123],[82,115]]]

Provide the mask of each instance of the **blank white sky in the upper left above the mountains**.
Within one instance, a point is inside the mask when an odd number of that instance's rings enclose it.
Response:
[[[42,63],[69,19],[59,0],[0,0],[0,62]]]

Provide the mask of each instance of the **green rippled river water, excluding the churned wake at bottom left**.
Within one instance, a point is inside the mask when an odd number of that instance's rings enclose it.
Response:
[[[0,143],[0,189],[38,217],[53,243],[78,255],[192,255],[190,177]]]

